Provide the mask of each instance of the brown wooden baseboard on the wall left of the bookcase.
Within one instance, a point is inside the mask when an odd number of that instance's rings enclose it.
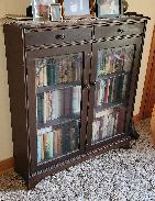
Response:
[[[9,170],[10,168],[14,167],[14,158],[8,158],[5,160],[0,161],[0,175],[4,171]]]

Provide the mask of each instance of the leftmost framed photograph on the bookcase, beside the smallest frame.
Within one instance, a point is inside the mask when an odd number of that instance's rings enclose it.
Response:
[[[32,13],[34,21],[48,21],[52,3],[55,3],[55,0],[33,0]]]

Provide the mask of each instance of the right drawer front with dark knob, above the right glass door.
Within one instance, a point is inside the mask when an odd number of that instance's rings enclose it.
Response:
[[[113,37],[113,36],[123,36],[140,34],[143,32],[144,24],[123,24],[123,25],[112,25],[112,26],[96,26],[95,27],[95,37]]]

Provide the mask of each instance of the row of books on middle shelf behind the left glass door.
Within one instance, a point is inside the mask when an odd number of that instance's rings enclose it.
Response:
[[[36,97],[37,123],[80,113],[81,86],[38,93]]]

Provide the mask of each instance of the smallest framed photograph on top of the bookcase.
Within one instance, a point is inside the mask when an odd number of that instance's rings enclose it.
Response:
[[[51,4],[51,21],[62,20],[62,5],[60,3]]]

